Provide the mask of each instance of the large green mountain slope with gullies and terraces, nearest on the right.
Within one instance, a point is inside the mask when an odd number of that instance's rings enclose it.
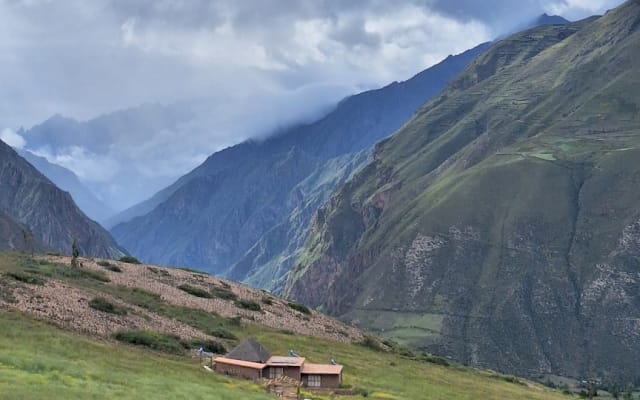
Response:
[[[640,2],[499,41],[315,215],[286,293],[509,373],[640,382]]]

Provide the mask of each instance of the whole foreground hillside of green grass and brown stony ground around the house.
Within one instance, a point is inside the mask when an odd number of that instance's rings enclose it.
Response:
[[[306,314],[293,310],[287,302],[275,297],[269,301],[265,298],[271,305],[260,300],[264,307],[261,312],[238,309],[231,311],[235,314],[223,316],[221,313],[226,309],[222,303],[249,301],[254,295],[263,299],[266,295],[206,275],[116,261],[107,264],[105,260],[100,266],[89,259],[82,259],[84,267],[74,270],[68,261],[68,258],[39,257],[32,262],[27,256],[0,253],[3,399],[271,398],[258,385],[205,371],[191,352],[200,344],[212,343],[229,349],[248,336],[257,337],[274,354],[295,349],[311,362],[337,359],[345,366],[345,383],[359,388],[361,395],[349,397],[353,399],[365,395],[380,399],[564,397],[527,381],[456,365],[439,365],[447,362],[411,354],[406,349],[372,349],[357,343],[362,336],[356,331],[314,311]],[[149,268],[155,272],[149,272]],[[147,278],[138,280],[140,275],[136,273],[140,271],[149,272]],[[178,278],[184,276],[214,279],[217,284],[185,286]],[[148,291],[125,290],[121,284],[124,278],[133,277],[137,285],[144,285]],[[220,289],[225,287],[221,285],[223,282],[238,296],[237,300],[199,297],[203,293],[226,293],[224,297],[229,297],[228,292]],[[180,295],[171,293],[169,287],[174,285],[183,288],[176,292]],[[201,291],[194,290],[197,288]],[[91,301],[95,298],[106,299],[117,307],[92,308],[96,307]],[[190,306],[181,305],[189,300],[196,301]],[[52,302],[56,304],[47,306]],[[219,312],[205,311],[203,304],[207,303],[215,304]],[[288,315],[290,311],[300,318],[289,324],[283,318],[277,328],[256,323],[260,320],[258,314]],[[251,313],[255,314],[253,319]],[[318,329],[318,334],[324,338],[291,331],[306,323],[322,324],[326,331]],[[156,350],[115,339],[118,332],[131,333],[139,328],[154,331],[152,336],[156,339],[165,335],[154,342]],[[353,342],[326,333],[338,329],[344,330]],[[373,341],[370,345],[380,344]]]

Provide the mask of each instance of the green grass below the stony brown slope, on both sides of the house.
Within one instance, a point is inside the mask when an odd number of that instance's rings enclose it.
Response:
[[[273,353],[290,348],[345,366],[345,382],[381,399],[554,399],[541,387],[399,355],[246,327]],[[0,312],[0,397],[12,399],[270,399],[252,383],[205,371],[199,360],[93,340],[13,311]],[[318,398],[318,397],[314,397]],[[349,397],[361,399],[363,397]]]

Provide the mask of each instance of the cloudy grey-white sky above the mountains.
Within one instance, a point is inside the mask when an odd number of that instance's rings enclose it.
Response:
[[[28,146],[18,128],[54,114],[88,120],[197,100],[199,116],[181,129],[114,141],[114,154],[141,141],[150,148],[153,157],[129,160],[149,178],[162,175],[148,192],[214,151],[408,79],[543,12],[575,20],[621,2],[0,0],[0,139]],[[67,147],[33,150],[86,181],[105,181],[105,169],[88,163],[110,153]]]

